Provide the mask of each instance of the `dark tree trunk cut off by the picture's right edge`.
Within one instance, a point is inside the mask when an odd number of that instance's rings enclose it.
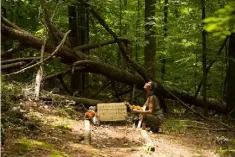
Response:
[[[235,33],[229,38],[228,47],[228,70],[226,87],[226,111],[230,112],[235,108]]]

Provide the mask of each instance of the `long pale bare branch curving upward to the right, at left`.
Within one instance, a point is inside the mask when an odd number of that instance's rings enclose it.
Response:
[[[70,30],[69,30],[67,33],[65,33],[63,40],[60,42],[60,44],[56,47],[56,49],[55,49],[46,59],[44,59],[44,60],[42,60],[42,61],[40,61],[40,62],[38,62],[38,63],[36,63],[36,64],[34,64],[34,65],[31,65],[31,66],[29,66],[29,67],[26,67],[26,68],[24,68],[24,69],[22,69],[22,70],[19,70],[19,71],[10,73],[10,74],[6,74],[6,75],[7,75],[7,76],[10,76],[10,75],[19,74],[19,73],[21,73],[21,72],[24,72],[25,70],[28,70],[28,69],[30,69],[30,68],[33,68],[33,67],[35,67],[35,66],[37,66],[37,65],[40,65],[41,63],[43,63],[43,62],[45,62],[45,61],[51,59],[54,55],[56,55],[56,53],[57,53],[57,52],[60,50],[60,48],[63,46],[63,44],[64,44],[64,42],[65,42],[65,39],[67,38],[67,36],[68,36],[69,33],[70,33]]]

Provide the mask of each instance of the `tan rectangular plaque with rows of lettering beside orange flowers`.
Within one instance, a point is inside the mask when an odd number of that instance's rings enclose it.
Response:
[[[97,114],[100,121],[125,121],[127,116],[126,103],[97,104]]]

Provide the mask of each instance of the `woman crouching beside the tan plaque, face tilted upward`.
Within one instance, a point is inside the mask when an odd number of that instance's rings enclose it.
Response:
[[[146,106],[146,110],[133,109],[133,112],[140,113],[143,129],[149,127],[152,132],[158,132],[163,120],[163,111],[154,86],[155,84],[152,81],[145,83],[144,89],[147,94],[147,100],[144,106]]]

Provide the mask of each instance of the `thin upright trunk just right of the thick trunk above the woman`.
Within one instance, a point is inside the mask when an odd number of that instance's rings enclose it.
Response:
[[[163,39],[164,40],[167,37],[167,17],[168,17],[167,15],[168,15],[168,0],[164,0],[164,18],[163,18]],[[165,53],[165,50],[166,50],[165,43],[166,42],[164,42],[164,53]],[[164,79],[165,72],[166,72],[166,55],[163,54],[162,68],[161,68],[161,74],[162,74],[161,78],[162,78],[162,80]]]

